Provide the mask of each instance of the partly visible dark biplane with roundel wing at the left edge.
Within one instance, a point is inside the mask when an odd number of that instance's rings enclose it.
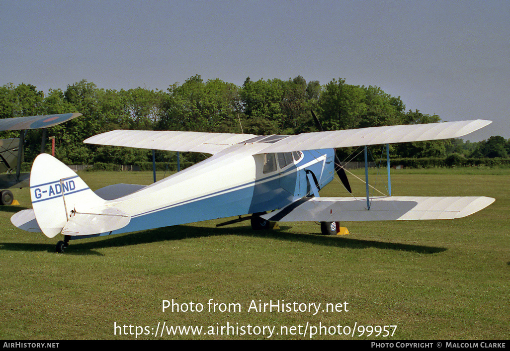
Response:
[[[0,119],[0,131],[20,131],[19,138],[0,139],[0,204],[11,205],[14,196],[9,188],[29,186],[30,173],[21,173],[23,145],[30,129],[42,129],[41,153],[46,143],[46,129],[57,126],[81,113],[63,113],[55,115],[24,116]]]

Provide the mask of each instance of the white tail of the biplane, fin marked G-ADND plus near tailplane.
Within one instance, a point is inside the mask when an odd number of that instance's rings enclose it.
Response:
[[[47,154],[37,156],[32,165],[30,196],[39,228],[48,238],[99,234],[124,227],[130,216],[105,204],[73,170]],[[112,229],[112,216],[123,217]]]

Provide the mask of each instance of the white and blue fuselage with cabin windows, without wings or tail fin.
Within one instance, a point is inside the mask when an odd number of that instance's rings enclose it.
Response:
[[[294,153],[281,167],[282,154],[272,154],[276,167],[265,169],[265,154],[252,155],[236,145],[130,195],[112,200],[131,215],[120,234],[202,220],[276,210],[310,196],[307,172],[322,188],[334,177],[334,149]],[[287,153],[291,154],[291,153]],[[289,155],[287,159],[289,159]],[[299,157],[297,157],[299,156]],[[278,159],[279,157],[279,159]]]

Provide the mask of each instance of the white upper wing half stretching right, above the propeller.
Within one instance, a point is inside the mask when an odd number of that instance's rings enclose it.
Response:
[[[283,137],[268,144],[258,154],[284,153],[321,148],[391,144],[409,141],[439,140],[462,137],[492,123],[489,120],[402,124],[343,131],[302,133]]]

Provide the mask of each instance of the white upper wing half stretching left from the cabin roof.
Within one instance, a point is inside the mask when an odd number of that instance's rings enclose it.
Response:
[[[94,135],[83,142],[88,144],[215,154],[224,148],[254,136],[252,134],[116,130]]]

